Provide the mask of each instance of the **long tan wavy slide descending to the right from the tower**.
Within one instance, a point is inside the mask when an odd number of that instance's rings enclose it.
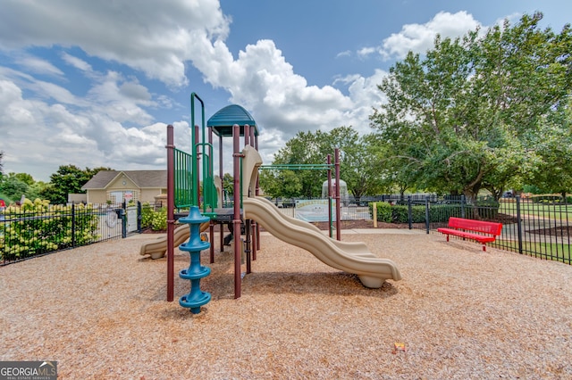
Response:
[[[310,223],[285,216],[261,197],[245,198],[242,206],[245,219],[256,220],[283,242],[311,252],[332,268],[356,274],[366,287],[379,288],[387,279],[401,279],[393,261],[376,257],[365,244],[338,242]]]

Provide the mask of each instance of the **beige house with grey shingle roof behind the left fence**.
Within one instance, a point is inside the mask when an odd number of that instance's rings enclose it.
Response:
[[[101,170],[81,190],[88,203],[165,202],[167,170]]]

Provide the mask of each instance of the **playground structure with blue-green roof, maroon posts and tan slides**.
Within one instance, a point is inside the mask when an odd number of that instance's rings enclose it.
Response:
[[[202,106],[202,128],[195,125],[195,99]],[[191,94],[191,153],[177,150],[173,144],[172,126],[167,127],[167,236],[165,241],[151,242],[141,247],[141,254],[154,252],[159,255],[166,249],[167,255],[167,301],[173,300],[173,252],[179,245],[181,251],[189,252],[188,269],[181,270],[180,277],[191,282],[190,293],[181,297],[182,307],[191,312],[200,312],[200,306],[210,301],[210,294],[200,290],[200,279],[208,276],[210,268],[200,264],[200,252],[210,248],[210,261],[214,262],[214,225],[220,225],[220,246],[223,250],[223,226],[231,230],[232,237],[240,242],[244,231],[244,244],[234,245],[234,298],[240,298],[241,256],[246,257],[246,274],[251,272],[251,260],[256,260],[260,249],[260,225],[282,241],[299,246],[315,255],[332,268],[356,274],[363,285],[379,288],[387,279],[401,279],[399,269],[391,260],[381,259],[369,252],[365,244],[341,242],[340,186],[335,186],[336,237],[332,238],[332,206],[330,207],[330,236],[317,227],[299,219],[292,219],[263,197],[259,197],[258,169],[262,159],[257,152],[258,130],[256,121],[240,105],[232,104],[216,112],[205,127],[205,105],[196,94]],[[206,135],[208,133],[208,135]],[[202,138],[199,138],[202,134]],[[213,135],[219,136],[220,176],[214,176]],[[232,208],[223,208],[223,137],[232,137],[233,146],[233,200]],[[208,137],[208,140],[206,140]],[[240,149],[240,137],[244,147]],[[201,165],[202,164],[202,165]],[[332,183],[332,168],[335,168],[335,183],[340,182],[339,152],[335,151],[335,163],[331,156],[320,169],[328,169],[328,181]],[[202,183],[201,183],[202,178]],[[332,186],[329,186],[330,199]],[[201,196],[202,195],[202,196]],[[175,209],[189,209],[189,215],[179,219],[184,226],[175,229]],[[200,233],[209,229],[209,241],[201,242]],[[183,240],[189,237],[188,243]],[[244,252],[242,252],[244,250]]]

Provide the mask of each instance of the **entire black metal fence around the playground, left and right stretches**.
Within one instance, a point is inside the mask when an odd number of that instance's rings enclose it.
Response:
[[[282,212],[296,217],[296,199],[272,199]],[[437,233],[450,217],[501,222],[501,236],[489,244],[500,249],[572,264],[572,203],[559,197],[528,199],[519,196],[480,198],[469,204],[465,197],[433,194],[379,195],[342,199],[341,219],[376,218],[388,223]],[[133,225],[128,214],[136,214]],[[0,266],[141,231],[142,208],[123,204],[24,204],[0,211]],[[128,219],[131,220],[128,222]],[[452,236],[451,236],[452,237]]]

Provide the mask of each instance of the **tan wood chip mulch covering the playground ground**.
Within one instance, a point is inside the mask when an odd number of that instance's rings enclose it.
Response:
[[[366,289],[262,234],[234,299],[233,254],[202,264],[211,302],[179,305],[189,255],[139,255],[156,235],[0,268],[0,360],[57,360],[61,379],[572,378],[572,267],[421,231],[345,232],[403,279]],[[217,239],[214,242],[218,242]],[[244,270],[244,266],[242,267]]]

